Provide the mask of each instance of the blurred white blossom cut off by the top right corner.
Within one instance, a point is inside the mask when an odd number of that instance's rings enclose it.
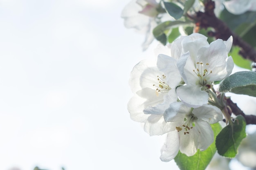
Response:
[[[223,2],[226,9],[235,15],[246,11],[256,11],[256,0],[229,0]]]

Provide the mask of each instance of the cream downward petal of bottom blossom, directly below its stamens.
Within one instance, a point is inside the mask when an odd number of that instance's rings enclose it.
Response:
[[[193,128],[189,130],[189,134],[184,135],[183,130],[178,133],[180,136],[180,152],[189,157],[195,155],[198,149],[198,131]]]

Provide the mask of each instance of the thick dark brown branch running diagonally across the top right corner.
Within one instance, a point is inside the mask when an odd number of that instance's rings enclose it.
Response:
[[[233,33],[229,27],[214,14],[215,3],[212,0],[208,0],[205,4],[205,12],[198,12],[195,20],[200,24],[201,28],[207,29],[212,27],[215,29],[214,33],[210,35],[227,40],[231,35],[233,36],[233,45],[240,46],[240,55],[245,59],[256,62],[256,51],[252,46],[243,41],[238,35]]]

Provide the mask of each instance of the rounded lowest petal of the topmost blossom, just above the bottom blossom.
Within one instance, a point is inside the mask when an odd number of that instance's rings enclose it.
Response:
[[[180,86],[176,92],[180,100],[189,107],[197,108],[208,103],[208,93],[202,91],[200,86]]]

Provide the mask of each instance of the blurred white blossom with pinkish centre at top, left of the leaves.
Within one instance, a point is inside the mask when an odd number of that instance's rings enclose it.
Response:
[[[153,29],[157,26],[160,4],[155,0],[132,0],[124,7],[121,17],[126,28],[135,28],[146,34],[142,49],[146,50],[155,39]]]

